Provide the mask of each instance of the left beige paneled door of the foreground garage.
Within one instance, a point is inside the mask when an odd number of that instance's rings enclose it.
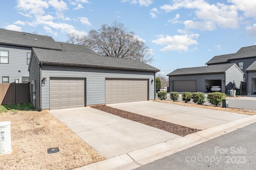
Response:
[[[84,107],[84,78],[50,78],[50,109]]]

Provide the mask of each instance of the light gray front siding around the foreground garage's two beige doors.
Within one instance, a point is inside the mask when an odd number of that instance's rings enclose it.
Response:
[[[50,108],[49,80],[50,77],[86,78],[86,106],[105,104],[106,78],[138,78],[149,81],[149,100],[154,99],[154,72],[140,72],[128,70],[112,70],[101,68],[86,68],[74,66],[42,66],[42,77],[47,81],[42,86],[42,109]]]

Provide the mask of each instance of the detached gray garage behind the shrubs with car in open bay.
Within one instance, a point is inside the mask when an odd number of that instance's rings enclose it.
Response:
[[[208,92],[210,86],[218,85],[221,86],[223,93],[234,88],[240,89],[243,75],[244,73],[235,63],[180,68],[167,74],[170,91]]]

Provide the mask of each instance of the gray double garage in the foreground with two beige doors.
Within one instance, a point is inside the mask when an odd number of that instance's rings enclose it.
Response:
[[[152,100],[155,73],[141,61],[32,48],[31,100],[40,110]]]

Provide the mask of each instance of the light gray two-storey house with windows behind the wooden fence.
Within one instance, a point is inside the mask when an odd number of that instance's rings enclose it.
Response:
[[[29,82],[32,47],[58,49],[52,37],[0,29],[0,83]]]

